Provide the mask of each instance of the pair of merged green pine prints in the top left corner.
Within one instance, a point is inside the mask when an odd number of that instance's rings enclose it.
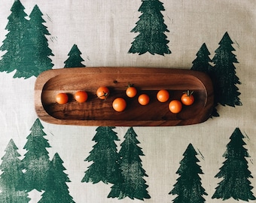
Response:
[[[7,51],[0,61],[0,71],[12,72],[17,70],[15,77],[29,78],[37,77],[42,71],[53,67],[52,51],[48,47],[45,35],[50,35],[46,23],[42,18],[42,13],[38,6],[29,15],[30,20],[26,20],[25,8],[19,0],[14,2],[11,8],[11,15],[8,17],[8,25],[5,29],[9,32],[3,41],[0,50]]]

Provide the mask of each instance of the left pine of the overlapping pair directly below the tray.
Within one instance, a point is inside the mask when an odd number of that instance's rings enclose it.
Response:
[[[84,161],[93,162],[81,182],[115,183],[119,178],[117,145],[114,141],[119,141],[117,133],[113,131],[115,127],[99,126],[93,141],[96,144],[90,155]]]

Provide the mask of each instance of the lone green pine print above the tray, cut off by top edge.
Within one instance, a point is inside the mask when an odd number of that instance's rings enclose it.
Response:
[[[158,0],[142,0],[139,8],[142,15],[131,32],[139,32],[130,47],[129,53],[139,55],[149,52],[164,55],[171,53],[167,44],[169,41],[164,32],[169,32],[163,20],[161,11],[165,11],[163,3]]]

